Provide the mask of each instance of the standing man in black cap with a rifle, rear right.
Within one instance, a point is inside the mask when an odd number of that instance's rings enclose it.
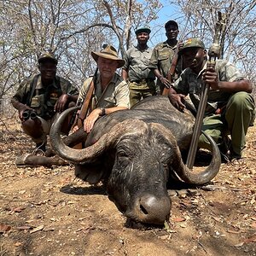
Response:
[[[157,77],[157,85],[160,87],[160,94],[162,94],[164,88],[171,86],[170,81],[167,79],[168,72],[171,68],[172,58],[177,48],[177,34],[178,26],[174,20],[166,22],[166,37],[167,40],[163,43],[157,44],[152,52],[152,56],[148,67],[154,70],[154,74]],[[174,79],[177,79],[181,73],[181,61],[177,61],[176,72]]]

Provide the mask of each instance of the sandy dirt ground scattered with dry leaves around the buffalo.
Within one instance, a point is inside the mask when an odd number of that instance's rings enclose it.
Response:
[[[0,119],[0,256],[256,255],[256,127],[246,164],[222,164],[208,186],[169,190],[170,224],[134,225],[102,185],[75,179],[73,166],[17,168],[32,152],[17,120]]]

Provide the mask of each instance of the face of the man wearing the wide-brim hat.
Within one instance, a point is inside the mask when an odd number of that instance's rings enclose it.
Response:
[[[112,79],[117,70],[118,62],[102,57],[99,57],[97,62],[102,79]]]

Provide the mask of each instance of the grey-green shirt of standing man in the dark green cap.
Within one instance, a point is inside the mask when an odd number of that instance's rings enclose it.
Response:
[[[155,79],[154,71],[148,68],[152,48],[139,49],[139,46],[128,49],[125,54],[125,65],[122,67],[128,72],[129,81],[142,81]]]

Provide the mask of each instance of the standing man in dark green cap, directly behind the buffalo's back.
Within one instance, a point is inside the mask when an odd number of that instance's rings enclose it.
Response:
[[[148,47],[151,30],[140,27],[136,30],[137,46],[128,49],[125,65],[122,69],[123,79],[129,80],[131,107],[148,96],[156,95],[154,71],[148,68],[152,49]]]

